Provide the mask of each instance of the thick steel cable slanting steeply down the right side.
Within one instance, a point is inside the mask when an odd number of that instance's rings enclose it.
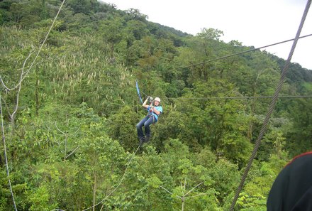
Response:
[[[252,154],[251,154],[251,156],[250,156],[249,162],[247,163],[247,167],[245,168],[245,172],[244,172],[244,174],[243,174],[243,177],[242,177],[242,179],[240,180],[240,185],[238,185],[238,189],[236,190],[235,196],[234,196],[234,198],[233,198],[233,202],[232,202],[232,204],[230,205],[230,211],[233,211],[233,209],[234,209],[234,207],[235,207],[236,201],[238,200],[238,196],[240,195],[240,191],[242,190],[243,185],[244,185],[244,183],[245,183],[245,179],[247,178],[247,174],[248,174],[248,172],[250,171],[250,167],[252,166],[252,161],[254,160],[254,158],[255,158],[255,156],[256,156],[256,153],[257,153],[257,150],[258,150],[258,148],[259,148],[259,146],[260,146],[261,139],[262,139],[262,136],[263,136],[263,134],[264,134],[264,131],[267,129],[267,124],[268,124],[268,122],[269,122],[269,118],[270,118],[270,116],[271,116],[271,114],[272,114],[272,112],[273,112],[273,109],[274,109],[274,107],[275,107],[275,104],[276,104],[276,102],[277,102],[277,98],[278,98],[278,95],[279,95],[279,91],[282,89],[282,85],[283,85],[283,82],[284,82],[284,78],[285,78],[285,76],[286,76],[286,70],[287,70],[288,67],[289,67],[289,63],[290,63],[290,61],[291,61],[292,55],[294,54],[294,50],[295,50],[295,48],[296,48],[296,43],[298,42],[298,39],[299,39],[299,36],[300,36],[300,33],[301,33],[301,29],[302,29],[302,27],[303,27],[303,23],[304,23],[304,21],[305,21],[305,19],[306,19],[306,16],[307,16],[307,13],[308,13],[308,9],[309,9],[309,7],[310,7],[310,5],[311,5],[311,1],[312,1],[312,0],[308,0],[308,1],[307,1],[306,9],[305,9],[304,12],[303,12],[303,16],[302,16],[302,18],[301,18],[301,23],[300,23],[299,28],[298,28],[298,31],[297,31],[297,33],[296,33],[296,37],[295,37],[295,39],[294,39],[294,43],[293,43],[293,45],[291,46],[291,50],[290,50],[290,52],[289,52],[288,59],[287,59],[286,64],[285,64],[285,66],[284,66],[284,68],[283,68],[283,70],[282,70],[282,75],[281,75],[280,80],[279,80],[279,83],[278,83],[278,85],[277,85],[277,89],[276,89],[275,92],[274,92],[274,97],[273,97],[273,99],[272,99],[272,102],[271,102],[271,104],[269,105],[269,109],[268,109],[268,111],[267,111],[267,116],[266,116],[265,119],[264,119],[262,128],[261,128],[261,130],[260,130],[260,134],[259,134],[259,136],[258,136],[258,138],[257,138],[256,143],[255,143],[255,147],[254,147],[254,149],[253,149],[253,151],[252,151]]]

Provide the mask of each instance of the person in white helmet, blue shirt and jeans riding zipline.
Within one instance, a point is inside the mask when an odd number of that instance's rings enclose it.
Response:
[[[147,102],[149,104],[147,104]],[[154,102],[154,104],[152,103]],[[140,140],[140,145],[144,144],[144,142],[150,141],[150,124],[156,123],[158,117],[162,113],[162,107],[160,106],[160,98],[155,97],[155,100],[152,101],[152,97],[147,97],[145,102],[143,102],[142,106],[147,109],[147,116],[144,117],[138,124],[138,138]],[[145,136],[143,133],[143,126],[145,129]]]

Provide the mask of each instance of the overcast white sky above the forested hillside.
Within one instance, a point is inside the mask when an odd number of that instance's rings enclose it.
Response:
[[[196,35],[201,28],[223,31],[225,42],[238,40],[255,48],[289,40],[296,36],[308,0],[102,0],[116,4],[117,9],[138,9],[148,21],[160,23]],[[312,6],[301,36],[312,33]],[[292,42],[269,47],[285,60]],[[264,50],[264,49],[262,49]],[[298,41],[293,63],[312,70],[312,36]]]

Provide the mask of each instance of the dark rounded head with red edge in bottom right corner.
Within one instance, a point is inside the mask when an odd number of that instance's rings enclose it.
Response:
[[[274,180],[267,211],[311,211],[312,151],[296,156]]]

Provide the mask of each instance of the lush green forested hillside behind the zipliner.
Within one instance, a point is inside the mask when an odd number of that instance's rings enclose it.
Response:
[[[0,1],[0,210],[228,210],[286,61],[217,28],[63,2]],[[136,82],[163,108],[143,146]],[[266,210],[312,150],[311,95],[311,70],[291,63],[235,210]]]

